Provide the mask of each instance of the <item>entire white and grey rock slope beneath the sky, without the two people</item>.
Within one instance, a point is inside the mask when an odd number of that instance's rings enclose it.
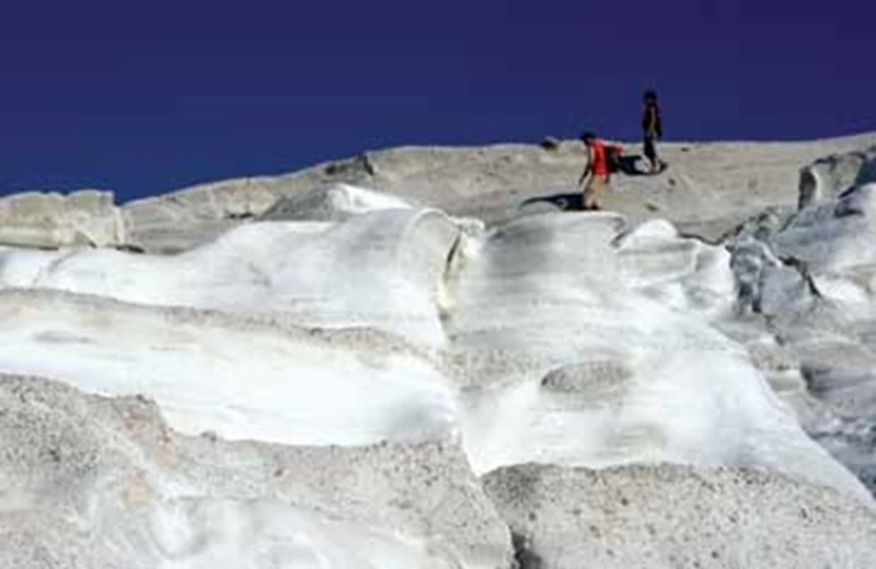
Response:
[[[497,467],[522,567],[873,565],[874,142],[668,146],[621,213],[558,142],[13,216],[64,247],[0,248],[0,565],[507,568]]]

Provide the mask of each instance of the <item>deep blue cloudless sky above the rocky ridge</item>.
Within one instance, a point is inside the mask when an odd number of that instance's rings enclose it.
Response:
[[[119,199],[405,143],[876,129],[876,2],[3,0],[0,194]]]

